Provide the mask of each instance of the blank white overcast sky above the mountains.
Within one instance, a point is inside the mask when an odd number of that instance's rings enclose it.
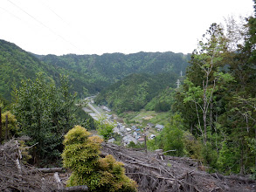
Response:
[[[1,0],[0,39],[43,55],[190,53],[232,15],[253,15],[253,0]]]

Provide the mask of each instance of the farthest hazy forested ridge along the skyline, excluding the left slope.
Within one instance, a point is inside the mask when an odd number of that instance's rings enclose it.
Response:
[[[174,52],[138,52],[134,54],[112,53],[99,55],[46,55],[38,58],[53,65],[61,72],[69,73],[73,86],[79,93],[83,87],[89,93],[97,93],[133,73],[158,74],[183,71],[190,55]]]

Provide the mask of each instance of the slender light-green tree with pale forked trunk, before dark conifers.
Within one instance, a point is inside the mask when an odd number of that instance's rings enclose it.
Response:
[[[214,93],[233,80],[229,73],[220,71],[226,49],[223,29],[218,24],[211,24],[204,35],[204,40],[198,44],[198,51],[194,51],[192,55],[190,62],[192,66],[188,70],[188,78],[184,81],[187,88],[184,93],[184,102],[191,101],[195,105],[197,129],[202,135],[204,145],[207,142],[207,126],[212,127],[213,124]],[[196,70],[201,77],[194,79]]]

